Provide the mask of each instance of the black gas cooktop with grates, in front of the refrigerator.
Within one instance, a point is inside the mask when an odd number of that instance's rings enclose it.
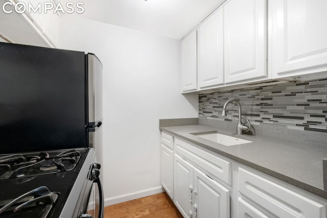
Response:
[[[0,155],[0,217],[59,217],[88,151]]]

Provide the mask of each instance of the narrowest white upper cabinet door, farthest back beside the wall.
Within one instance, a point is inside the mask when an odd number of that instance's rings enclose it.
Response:
[[[182,91],[197,89],[197,32],[181,41]]]

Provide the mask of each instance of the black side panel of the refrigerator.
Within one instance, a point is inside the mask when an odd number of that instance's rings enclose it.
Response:
[[[0,43],[0,153],[86,147],[85,54]]]

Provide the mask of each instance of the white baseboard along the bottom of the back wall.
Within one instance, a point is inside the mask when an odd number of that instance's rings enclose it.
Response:
[[[112,198],[106,198],[104,200],[104,206],[119,204],[119,203],[122,203],[122,202],[125,202],[125,201],[130,201],[130,200],[134,200],[134,199],[138,199],[138,198],[143,198],[143,197],[155,195],[157,193],[161,193],[161,192],[164,192],[164,191],[165,191],[165,189],[162,188],[162,186],[160,185],[160,186],[157,186],[157,187],[148,188],[148,189],[144,189],[144,190],[141,190],[141,191],[127,193],[126,195],[116,196],[116,197],[112,197]]]

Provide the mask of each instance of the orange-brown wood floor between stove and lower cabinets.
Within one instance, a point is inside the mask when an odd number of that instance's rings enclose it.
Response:
[[[120,204],[105,207],[104,218],[182,218],[172,200],[167,193],[158,193],[157,195],[145,198],[135,199]]]

